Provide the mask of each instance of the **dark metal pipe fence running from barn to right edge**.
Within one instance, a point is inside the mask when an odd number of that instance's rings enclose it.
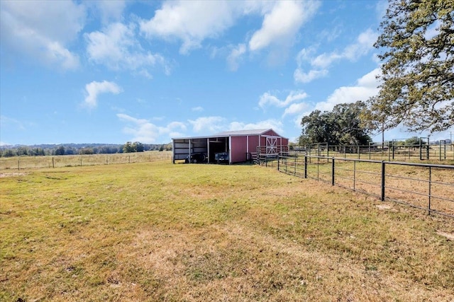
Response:
[[[454,165],[279,153],[277,170],[454,218]]]

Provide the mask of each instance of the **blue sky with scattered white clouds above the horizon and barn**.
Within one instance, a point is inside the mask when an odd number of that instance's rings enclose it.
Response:
[[[304,115],[367,100],[380,84],[373,43],[387,1],[0,6],[0,144],[162,144],[264,128],[294,140]]]

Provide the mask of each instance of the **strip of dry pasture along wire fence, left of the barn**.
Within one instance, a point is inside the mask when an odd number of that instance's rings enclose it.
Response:
[[[138,153],[115,153],[65,156],[16,156],[0,158],[0,170],[33,168],[58,168],[82,165],[111,165],[118,163],[143,163],[172,158],[172,151],[145,151]]]

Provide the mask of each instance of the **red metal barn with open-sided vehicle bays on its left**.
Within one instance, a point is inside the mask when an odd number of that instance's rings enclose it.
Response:
[[[209,137],[180,137],[172,139],[173,162],[177,160],[218,163],[241,163],[253,155],[277,154],[286,150],[289,139],[281,137],[273,129],[240,130],[220,132]],[[258,148],[260,147],[260,148]]]

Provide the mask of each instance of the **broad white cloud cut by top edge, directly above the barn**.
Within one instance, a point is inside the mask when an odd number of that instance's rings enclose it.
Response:
[[[231,1],[166,1],[153,18],[140,22],[140,30],[147,37],[182,40],[180,52],[187,54],[231,27],[240,6]]]

